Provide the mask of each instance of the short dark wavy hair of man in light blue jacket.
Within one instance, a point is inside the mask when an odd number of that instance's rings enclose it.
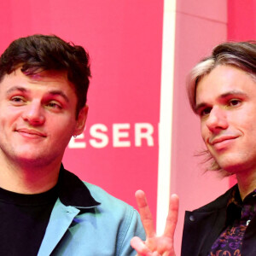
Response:
[[[78,97],[78,117],[86,104],[90,84],[90,57],[82,46],[67,43],[55,35],[18,38],[0,57],[0,82],[5,74],[20,66],[26,75],[47,70],[67,72],[67,79],[74,85]]]

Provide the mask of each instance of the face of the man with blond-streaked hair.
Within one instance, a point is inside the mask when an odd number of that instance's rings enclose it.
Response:
[[[236,67],[219,65],[196,88],[201,135],[227,172],[256,169],[256,82]]]

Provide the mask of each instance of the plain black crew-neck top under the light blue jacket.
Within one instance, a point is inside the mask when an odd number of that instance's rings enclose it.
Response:
[[[57,185],[36,195],[0,188],[0,255],[38,254],[57,197]]]

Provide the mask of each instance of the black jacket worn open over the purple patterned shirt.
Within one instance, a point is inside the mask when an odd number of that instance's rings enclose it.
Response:
[[[213,242],[225,228],[226,207],[232,189],[206,206],[185,213],[181,256],[207,256]],[[256,218],[247,226],[241,255],[256,255]]]

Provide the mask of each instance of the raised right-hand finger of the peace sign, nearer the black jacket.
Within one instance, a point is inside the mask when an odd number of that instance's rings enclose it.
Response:
[[[166,229],[164,232],[165,236],[173,239],[174,232],[177,224],[177,214],[178,214],[178,196],[173,194],[170,197],[169,212],[166,218]]]

